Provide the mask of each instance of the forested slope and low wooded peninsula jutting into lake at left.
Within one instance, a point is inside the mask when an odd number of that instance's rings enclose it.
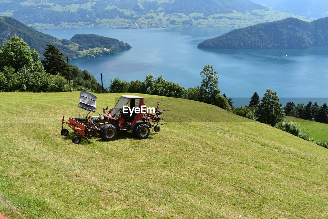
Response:
[[[57,39],[49,34],[39,32],[11,17],[0,16],[0,43],[4,43],[12,36],[22,38],[30,48],[34,48],[42,55],[47,44],[52,44],[64,52],[65,56],[86,57],[113,54],[120,49],[129,49],[131,46],[118,39],[90,34],[77,34],[71,40]],[[96,48],[97,49],[94,49]],[[106,51],[101,51],[106,48]]]

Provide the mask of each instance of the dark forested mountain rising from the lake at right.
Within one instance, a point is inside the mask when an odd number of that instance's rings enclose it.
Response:
[[[328,46],[328,17],[312,22],[297,18],[257,24],[207,39],[198,48],[296,49]]]

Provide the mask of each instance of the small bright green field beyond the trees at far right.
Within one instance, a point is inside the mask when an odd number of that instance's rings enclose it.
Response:
[[[310,137],[315,141],[328,141],[328,124],[309,121],[305,119],[287,116],[285,120],[296,122],[301,128],[307,129]]]

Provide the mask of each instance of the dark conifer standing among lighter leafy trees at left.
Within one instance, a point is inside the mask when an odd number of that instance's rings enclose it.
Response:
[[[60,53],[59,49],[51,44],[46,46],[48,47],[46,48],[45,53],[43,53],[44,60],[41,61],[44,69],[51,75],[60,73],[61,75],[66,76],[68,69],[64,53]]]

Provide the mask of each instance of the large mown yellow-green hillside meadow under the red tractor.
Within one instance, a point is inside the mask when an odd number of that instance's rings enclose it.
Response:
[[[96,95],[101,112],[121,94]],[[84,113],[79,92],[0,93],[0,195],[26,218],[328,218],[326,148],[213,105],[140,95],[171,109],[166,131],[76,145],[60,120]]]

